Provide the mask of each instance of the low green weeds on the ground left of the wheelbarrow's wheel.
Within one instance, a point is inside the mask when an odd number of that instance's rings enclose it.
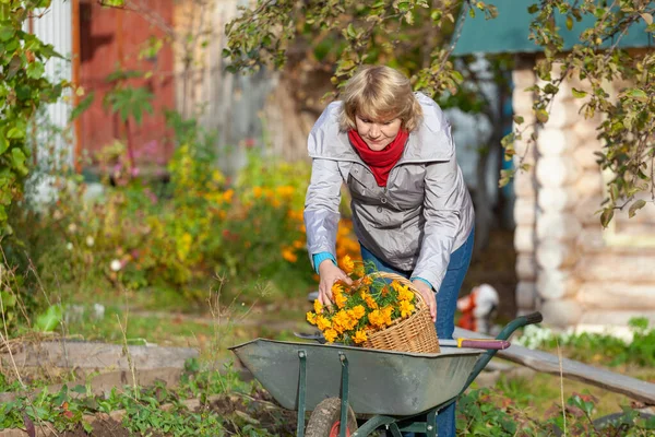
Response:
[[[210,402],[210,395],[217,397],[214,403]],[[191,398],[200,399],[200,409],[190,410],[184,405],[183,401]],[[83,427],[93,435],[90,415],[123,410],[121,425],[134,435],[290,434],[288,414],[281,409],[271,411],[270,405],[261,389],[241,382],[230,367],[219,373],[189,365],[176,388],[156,382],[148,388],[138,387],[136,391],[132,387],[114,388],[107,394],[93,395],[88,385],[72,388],[64,385],[58,392],[44,390],[32,400],[20,394],[13,401],[0,404],[0,429],[24,428],[27,422],[45,421],[59,433]]]

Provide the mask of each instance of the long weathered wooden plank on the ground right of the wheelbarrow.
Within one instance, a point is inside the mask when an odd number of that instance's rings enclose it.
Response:
[[[455,333],[453,335],[455,338],[491,339],[489,335],[461,328],[455,328]],[[537,371],[560,375],[559,358],[547,352],[533,351],[517,344],[512,344],[504,351],[498,351],[496,356],[521,364]],[[644,402],[648,405],[655,404],[655,383],[590,366],[569,358],[562,358],[561,367],[564,378],[574,379],[616,393],[626,394],[628,398]]]

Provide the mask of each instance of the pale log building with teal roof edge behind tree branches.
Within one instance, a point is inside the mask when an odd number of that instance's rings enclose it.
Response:
[[[525,90],[537,83],[534,67],[540,56],[528,39],[532,17],[519,0],[493,4],[497,19],[467,19],[454,55],[515,54],[513,110],[529,125],[534,95]],[[565,47],[588,24],[567,31],[562,23]],[[652,49],[644,26],[633,25],[620,46]],[[517,154],[526,154],[532,164],[514,179],[516,305],[522,312],[539,309],[547,323],[559,327],[626,326],[633,317],[655,322],[655,205],[647,204],[633,218],[617,213],[607,229],[600,226],[596,212],[611,175],[602,173],[594,155],[603,147],[596,139],[599,119],[579,114],[581,102],[571,88],[583,90],[585,83],[564,85],[548,122],[536,132],[536,147],[516,144]],[[607,91],[617,95],[623,86],[610,83]]]

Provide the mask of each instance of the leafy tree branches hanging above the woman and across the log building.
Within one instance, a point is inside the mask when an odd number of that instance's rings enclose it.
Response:
[[[592,92],[573,90],[584,98],[584,115],[602,114],[598,134],[605,142],[598,156],[602,168],[616,176],[609,182],[609,199],[604,203],[602,223],[607,225],[616,209],[629,208],[634,213],[645,204],[635,200],[639,191],[653,186],[655,147],[655,55],[635,55],[618,48],[630,26],[639,21],[653,33],[654,5],[648,0],[535,0],[526,4],[534,14],[531,38],[541,46],[545,57],[536,66],[543,84],[535,86],[534,104],[537,123],[548,120],[548,108],[562,81],[576,75],[591,83]],[[443,98],[462,92],[463,74],[455,69],[451,52],[466,16],[484,13],[496,15],[492,4],[463,0],[379,0],[370,5],[353,0],[291,1],[258,0],[253,9],[243,9],[238,19],[226,26],[229,38],[224,56],[230,70],[257,71],[262,67],[281,69],[289,58],[289,49],[298,43],[317,52],[334,57],[332,83],[335,92],[344,80],[364,63],[384,62],[406,71],[417,90]],[[579,44],[563,50],[563,39],[555,15],[565,17],[568,27],[585,16],[594,25],[583,32]],[[455,16],[457,19],[455,19]],[[607,42],[611,44],[607,45]],[[552,75],[553,64],[561,74]],[[472,78],[467,76],[467,81]],[[604,90],[605,81],[631,83],[617,101]],[[505,156],[515,154],[514,140],[522,139],[525,126],[517,119],[516,129],[502,140]],[[534,142],[534,138],[523,139]],[[650,165],[651,164],[651,165]],[[522,163],[520,168],[527,164]],[[507,184],[515,170],[503,170],[500,185]]]

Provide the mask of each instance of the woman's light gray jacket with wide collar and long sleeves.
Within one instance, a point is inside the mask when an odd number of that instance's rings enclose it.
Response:
[[[386,187],[378,186],[340,130],[341,102],[325,108],[308,139],[312,170],[305,201],[307,247],[310,258],[319,252],[335,256],[341,187],[346,182],[360,244],[439,291],[450,256],[466,241],[475,217],[450,123],[431,98],[420,93],[416,97],[424,120],[409,134]]]

